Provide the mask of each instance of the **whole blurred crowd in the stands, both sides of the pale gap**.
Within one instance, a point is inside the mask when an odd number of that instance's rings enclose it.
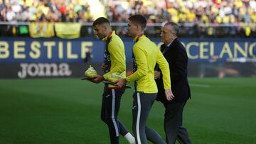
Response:
[[[161,23],[174,21],[181,26],[181,36],[256,37],[255,0],[100,1],[105,6],[107,18],[112,22],[126,23],[127,18],[135,13],[146,16],[147,35],[159,35]],[[92,22],[94,13],[90,13],[90,5],[87,2],[0,0],[0,21]],[[119,35],[127,34],[126,26],[114,26],[114,29]]]

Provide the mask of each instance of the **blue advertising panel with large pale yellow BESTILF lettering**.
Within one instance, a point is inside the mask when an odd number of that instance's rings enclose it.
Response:
[[[124,40],[127,62],[132,62],[132,38]],[[152,38],[161,45],[159,38]],[[256,57],[255,38],[181,38],[189,62],[209,62],[228,58]],[[102,62],[105,43],[96,38],[0,38],[0,62],[82,62],[92,49],[92,62]]]

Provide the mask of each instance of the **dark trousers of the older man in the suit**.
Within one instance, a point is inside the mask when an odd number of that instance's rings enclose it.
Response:
[[[164,104],[164,131],[166,133],[166,143],[174,144],[176,140],[182,144],[191,144],[188,131],[182,126],[182,113],[186,101]]]

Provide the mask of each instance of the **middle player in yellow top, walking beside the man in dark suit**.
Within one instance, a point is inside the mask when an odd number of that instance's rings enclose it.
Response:
[[[159,65],[164,79],[166,99],[174,99],[171,92],[169,65],[156,44],[144,35],[146,18],[142,15],[129,17],[128,34],[134,38],[133,47],[133,74],[116,83],[121,87],[126,82],[134,82],[134,101],[132,108],[132,130],[137,144],[146,144],[147,139],[153,143],[164,144],[161,136],[156,131],[146,126],[149,111],[158,92],[154,81],[154,67]]]

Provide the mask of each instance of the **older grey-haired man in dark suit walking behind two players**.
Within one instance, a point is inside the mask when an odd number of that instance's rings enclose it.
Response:
[[[159,89],[156,101],[161,101],[165,107],[164,131],[166,143],[174,144],[191,143],[188,131],[182,125],[182,113],[186,101],[191,97],[187,78],[188,56],[186,49],[177,38],[179,28],[176,23],[168,22],[161,29],[161,52],[169,63],[171,75],[171,90],[174,99],[167,100],[164,93],[163,78],[159,67],[156,65],[154,77]]]

